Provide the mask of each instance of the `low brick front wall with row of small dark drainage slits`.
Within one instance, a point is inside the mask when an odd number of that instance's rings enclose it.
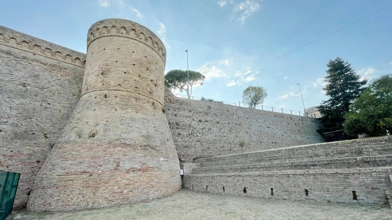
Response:
[[[187,189],[229,195],[384,204],[385,189],[391,186],[388,173],[390,168],[211,173],[184,175],[184,183]],[[352,191],[356,191],[358,200],[353,200]]]

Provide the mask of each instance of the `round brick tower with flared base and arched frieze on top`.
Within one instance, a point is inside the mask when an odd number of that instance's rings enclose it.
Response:
[[[166,52],[146,27],[94,23],[79,102],[34,182],[34,211],[113,206],[169,195],[180,165],[163,107]]]

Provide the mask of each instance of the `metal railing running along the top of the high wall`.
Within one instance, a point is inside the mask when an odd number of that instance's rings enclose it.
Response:
[[[186,99],[188,98],[188,96],[181,95],[181,94],[176,94],[176,97],[186,98]],[[191,99],[193,99],[193,100],[201,100],[201,97],[191,96]],[[203,101],[219,102],[219,103],[223,103],[223,104],[227,104],[227,105],[235,105],[235,106],[237,106],[237,103],[231,103],[231,102],[225,102],[225,101],[217,101],[217,100],[214,100],[214,99],[206,99],[206,100],[203,100]],[[238,102],[238,106],[249,108],[249,106],[247,106],[247,105],[245,105],[244,103],[241,103],[241,102]],[[291,115],[312,117],[312,118],[319,118],[319,117],[321,117],[321,115],[319,115],[319,114],[311,114],[311,113],[307,113],[307,112],[294,111],[294,110],[289,110],[289,109],[284,109],[284,108],[275,108],[275,107],[272,107],[272,106],[265,106],[265,105],[256,106],[256,109],[270,111],[270,112],[279,112],[279,113],[283,113],[283,114],[291,114]]]

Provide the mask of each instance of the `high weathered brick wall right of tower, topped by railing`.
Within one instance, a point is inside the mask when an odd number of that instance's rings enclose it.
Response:
[[[185,162],[324,141],[314,118],[181,99],[170,90],[165,108],[178,157]]]

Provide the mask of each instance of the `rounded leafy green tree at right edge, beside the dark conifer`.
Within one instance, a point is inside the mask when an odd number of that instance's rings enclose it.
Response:
[[[392,133],[392,74],[373,80],[350,106],[343,126],[350,135]]]

